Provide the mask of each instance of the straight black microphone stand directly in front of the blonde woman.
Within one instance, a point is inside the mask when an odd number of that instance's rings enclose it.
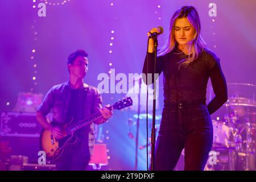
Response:
[[[156,105],[156,78],[155,78],[155,71],[156,71],[156,55],[157,55],[157,48],[158,48],[158,39],[157,36],[154,38],[154,48],[155,48],[155,61],[154,61],[154,94],[153,94],[153,115],[152,115],[152,130],[151,130],[151,171],[155,169],[155,105]]]

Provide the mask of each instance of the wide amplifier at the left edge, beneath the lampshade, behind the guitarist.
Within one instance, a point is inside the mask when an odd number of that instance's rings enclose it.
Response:
[[[2,112],[0,136],[40,137],[43,127],[36,120],[36,113]]]

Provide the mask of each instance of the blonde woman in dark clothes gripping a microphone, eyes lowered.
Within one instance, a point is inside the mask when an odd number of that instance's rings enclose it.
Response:
[[[210,114],[227,100],[220,59],[205,46],[200,18],[193,6],[183,6],[171,18],[166,46],[156,59],[156,73],[163,72],[164,108],[155,150],[155,170],[173,170],[185,149],[184,170],[204,170],[213,144]],[[143,73],[154,73],[154,39],[148,32]],[[207,82],[215,97],[206,104]],[[152,81],[144,79],[146,84]]]

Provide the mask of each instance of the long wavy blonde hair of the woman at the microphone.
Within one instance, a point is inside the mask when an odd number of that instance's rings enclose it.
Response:
[[[176,10],[174,15],[172,15],[168,41],[165,44],[165,46],[163,46],[159,50],[158,56],[163,56],[166,53],[171,52],[175,48],[175,46],[177,46],[177,41],[174,36],[174,31],[175,31],[174,26],[175,26],[176,19],[179,19],[179,18],[187,18],[189,23],[191,23],[193,28],[195,28],[195,32],[192,39],[185,46],[185,48],[188,48],[188,51],[189,51],[188,58],[183,59],[179,62],[180,63],[179,68],[180,68],[181,65],[187,67],[187,65],[195,61],[199,57],[201,51],[203,51],[204,48],[206,47],[206,43],[204,42],[203,38],[201,38],[201,35],[200,35],[200,31],[201,31],[200,18],[195,7],[183,6],[181,7],[181,9]]]

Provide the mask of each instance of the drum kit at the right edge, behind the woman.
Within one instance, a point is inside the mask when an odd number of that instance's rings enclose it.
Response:
[[[224,115],[213,119],[212,151],[217,154],[217,163],[207,163],[207,170],[256,170],[255,93],[256,85],[228,84]]]

